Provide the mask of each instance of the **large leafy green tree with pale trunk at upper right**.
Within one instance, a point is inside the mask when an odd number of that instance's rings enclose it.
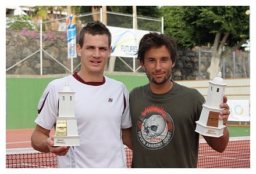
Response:
[[[234,50],[242,49],[250,39],[249,6],[163,6],[165,33],[176,38],[185,48],[195,45],[213,46],[210,79],[219,71],[221,59]],[[225,46],[225,50],[223,50]]]

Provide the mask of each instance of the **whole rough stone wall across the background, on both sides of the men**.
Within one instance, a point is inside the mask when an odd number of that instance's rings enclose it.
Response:
[[[70,59],[67,59],[66,32],[43,32],[42,47],[45,52],[54,57],[55,60],[59,61],[59,63],[63,64],[63,66],[70,69]],[[176,66],[173,68],[173,79],[182,80],[209,78],[207,68],[210,65],[211,53],[201,52],[201,73],[199,74],[198,51],[200,49],[208,48],[196,47],[193,50],[178,51]],[[38,31],[28,31],[25,28],[23,28],[22,31],[6,30],[6,70],[38,50],[40,50],[40,34]],[[45,52],[42,52],[43,75],[70,73]],[[248,54],[246,56],[244,55],[246,54],[236,54],[235,74],[233,73],[233,58],[230,57],[225,60],[225,78],[250,77],[250,59],[248,59]],[[133,59],[128,59],[131,67],[132,60]],[[73,59],[74,68],[77,67],[79,63],[80,58]],[[223,68],[223,62],[221,64],[221,68]],[[77,68],[77,70],[79,70],[79,68]],[[116,59],[114,71],[131,72],[131,70],[129,70],[129,68],[127,68],[126,65],[118,59]],[[140,70],[139,72],[142,71]],[[40,52],[35,53],[22,63],[17,64],[16,67],[8,70],[6,74],[40,75]]]

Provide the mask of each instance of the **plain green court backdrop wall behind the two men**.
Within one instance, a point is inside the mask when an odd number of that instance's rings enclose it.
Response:
[[[145,75],[106,75],[122,81],[127,89],[148,83]],[[6,129],[34,128],[37,104],[47,84],[60,77],[6,78]],[[228,126],[230,137],[250,136],[250,127]]]

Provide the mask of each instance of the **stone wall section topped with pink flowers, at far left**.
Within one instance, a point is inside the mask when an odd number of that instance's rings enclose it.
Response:
[[[42,51],[42,72],[44,75],[69,73],[63,68],[66,66],[70,70],[70,59],[67,60],[66,32],[44,32],[42,48],[44,50]],[[6,70],[38,50],[40,50],[40,33],[38,31],[6,30]],[[63,66],[56,61],[59,61]],[[73,61],[74,66],[80,63],[80,59],[73,59]],[[40,62],[40,51],[38,51],[7,71],[6,74],[40,75]]]

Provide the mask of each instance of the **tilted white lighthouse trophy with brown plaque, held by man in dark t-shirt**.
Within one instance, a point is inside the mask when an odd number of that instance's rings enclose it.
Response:
[[[223,135],[223,129],[226,126],[223,125],[223,120],[219,120],[219,111],[224,110],[224,108],[219,106],[223,103],[226,85],[221,77],[221,72],[212,81],[209,81],[207,99],[202,105],[200,119],[195,122],[197,124],[195,132],[211,137]]]

